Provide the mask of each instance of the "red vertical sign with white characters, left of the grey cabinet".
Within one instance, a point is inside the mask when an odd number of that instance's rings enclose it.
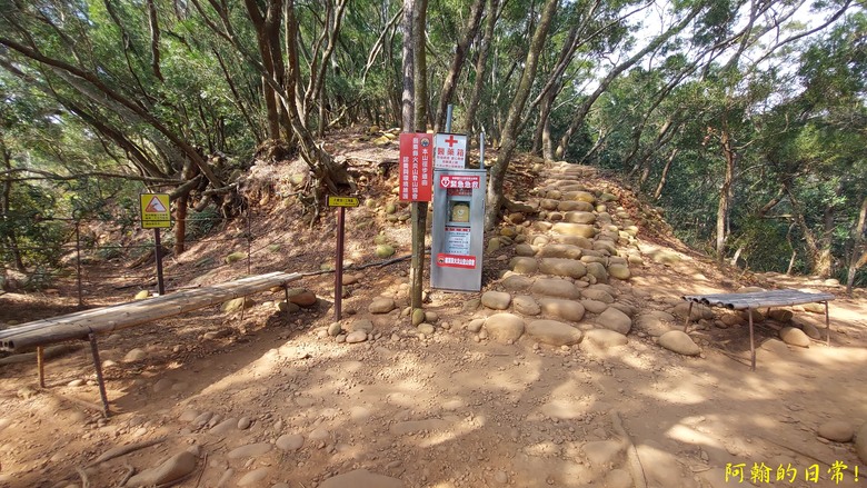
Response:
[[[434,182],[434,136],[400,135],[400,200],[430,201]]]

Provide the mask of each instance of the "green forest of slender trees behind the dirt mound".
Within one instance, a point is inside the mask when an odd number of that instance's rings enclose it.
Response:
[[[315,217],[355,188],[330,131],[442,131],[451,103],[498,149],[489,227],[527,151],[720,262],[863,287],[866,82],[853,0],[0,0],[0,262],[56,266],[61,218],[144,189],[230,219],[256,159],[300,157]]]

